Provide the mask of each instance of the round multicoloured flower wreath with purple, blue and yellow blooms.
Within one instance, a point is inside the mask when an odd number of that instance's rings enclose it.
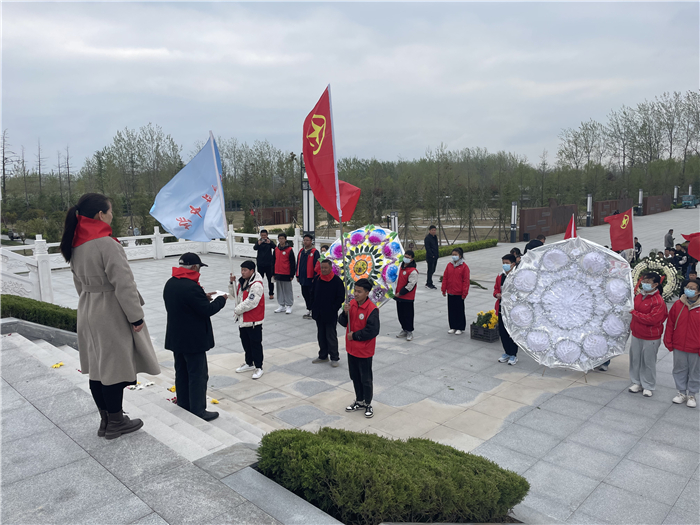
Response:
[[[353,297],[357,280],[369,279],[374,285],[369,298],[381,306],[394,297],[403,261],[403,247],[395,240],[396,236],[396,232],[368,224],[344,235],[345,266],[340,239],[331,245],[328,252],[321,254],[321,260],[331,260],[333,272],[344,280],[349,298]],[[348,279],[344,278],[344,267],[348,270]]]

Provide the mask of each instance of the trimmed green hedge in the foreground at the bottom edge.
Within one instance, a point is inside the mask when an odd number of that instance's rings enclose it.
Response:
[[[428,439],[276,430],[258,454],[263,474],[348,525],[489,522],[530,489],[514,472]]]

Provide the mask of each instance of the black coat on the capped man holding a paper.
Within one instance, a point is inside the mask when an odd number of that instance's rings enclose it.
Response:
[[[163,288],[168,321],[165,348],[183,354],[206,352],[214,346],[210,317],[226,305],[226,299],[209,301],[199,284],[171,277]]]

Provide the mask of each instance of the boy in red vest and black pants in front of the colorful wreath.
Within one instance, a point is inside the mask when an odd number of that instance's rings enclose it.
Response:
[[[350,379],[355,387],[355,402],[346,412],[364,410],[365,417],[372,417],[372,356],[379,335],[379,310],[369,300],[372,284],[367,279],[355,283],[355,298],[343,305],[338,317],[341,326],[347,327],[345,349],[348,352]]]

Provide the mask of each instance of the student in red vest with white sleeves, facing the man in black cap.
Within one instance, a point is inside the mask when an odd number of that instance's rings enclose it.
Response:
[[[262,323],[265,319],[265,287],[262,276],[255,271],[253,261],[241,263],[241,278],[230,276],[229,294],[236,298],[234,314],[238,321],[241,344],[245,352],[245,363],[236,372],[253,372],[253,379],[263,375]],[[234,289],[234,286],[236,287]]]

